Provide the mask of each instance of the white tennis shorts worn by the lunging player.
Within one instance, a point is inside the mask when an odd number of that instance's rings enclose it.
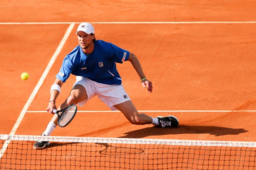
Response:
[[[76,82],[73,87],[75,85],[84,86],[88,96],[87,99],[78,103],[79,106],[84,105],[88,100],[97,95],[102,102],[115,111],[117,109],[114,105],[131,100],[122,85],[105,85],[81,76],[76,76]]]

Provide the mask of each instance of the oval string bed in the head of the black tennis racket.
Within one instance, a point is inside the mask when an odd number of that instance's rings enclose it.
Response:
[[[76,114],[76,105],[70,105],[64,111],[62,111],[61,115],[58,118],[59,126],[67,125],[72,119],[74,114]]]

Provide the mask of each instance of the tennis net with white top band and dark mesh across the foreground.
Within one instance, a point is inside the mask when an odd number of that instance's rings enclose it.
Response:
[[[256,142],[0,135],[0,147],[1,170],[256,169]]]

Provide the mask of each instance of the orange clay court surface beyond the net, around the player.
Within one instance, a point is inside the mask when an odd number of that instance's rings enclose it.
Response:
[[[79,23],[255,21],[255,8],[252,0],[98,0],[88,4],[73,0],[1,0],[0,134],[11,133],[70,26],[37,23],[77,22],[47,79],[29,103],[27,111],[35,112],[25,114],[15,134],[40,135],[47,127],[52,115],[39,111],[47,108],[50,86],[63,58],[78,45],[75,33]],[[15,22],[21,24],[6,24]],[[256,110],[256,23],[93,26],[98,40],[136,54],[152,81],[153,92],[149,94],[130,62],[118,64],[125,90],[137,109],[152,111],[145,113],[153,117],[174,115],[180,127],[131,125],[120,112],[78,112],[70,125],[57,127],[53,136],[256,141],[256,113],[251,111]],[[29,73],[26,81],[20,78],[23,72]],[[63,85],[57,105],[68,96],[74,80],[71,76]],[[95,97],[79,111],[110,109]]]

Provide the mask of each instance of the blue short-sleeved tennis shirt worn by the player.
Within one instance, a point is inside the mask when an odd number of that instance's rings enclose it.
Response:
[[[94,42],[91,54],[84,54],[78,45],[64,58],[56,78],[66,82],[70,74],[73,74],[102,84],[121,85],[122,79],[116,70],[116,62],[127,61],[129,55],[129,51],[103,40]]]

